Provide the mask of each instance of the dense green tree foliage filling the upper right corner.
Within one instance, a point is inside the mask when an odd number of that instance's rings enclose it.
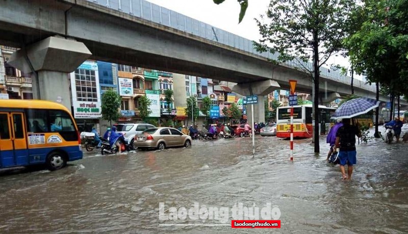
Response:
[[[344,40],[353,67],[381,93],[408,94],[408,1],[365,1],[361,27]],[[358,20],[356,20],[358,21]],[[357,24],[357,23],[356,23]]]

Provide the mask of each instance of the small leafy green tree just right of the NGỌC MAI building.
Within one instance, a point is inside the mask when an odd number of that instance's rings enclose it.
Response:
[[[120,117],[120,96],[112,89],[107,90],[102,94],[102,118],[109,121],[112,127],[112,121],[118,121]]]

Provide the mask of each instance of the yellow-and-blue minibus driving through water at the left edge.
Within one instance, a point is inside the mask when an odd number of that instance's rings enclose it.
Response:
[[[44,100],[0,100],[0,168],[82,159],[81,137],[68,109]]]

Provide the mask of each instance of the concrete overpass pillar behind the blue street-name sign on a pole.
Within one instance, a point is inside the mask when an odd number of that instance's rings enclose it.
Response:
[[[258,103],[253,105],[254,119],[251,119],[251,105],[246,106],[249,124],[253,125],[255,121],[265,123],[265,96],[279,88],[281,88],[281,86],[272,80],[242,83],[233,87],[234,92],[243,96],[258,95]]]

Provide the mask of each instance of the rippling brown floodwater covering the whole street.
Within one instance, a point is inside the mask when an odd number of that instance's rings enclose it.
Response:
[[[408,129],[403,129],[407,131]],[[371,130],[373,132],[373,130]],[[384,133],[384,130],[382,130]],[[351,181],[314,155],[310,140],[256,138],[194,141],[191,148],[123,155],[86,153],[54,172],[0,175],[0,233],[263,233],[218,220],[159,220],[159,202],[233,207],[237,202],[281,212],[279,233],[406,233],[408,144],[381,139],[358,145]],[[168,214],[169,211],[166,211]],[[231,217],[230,219],[231,220]]]

